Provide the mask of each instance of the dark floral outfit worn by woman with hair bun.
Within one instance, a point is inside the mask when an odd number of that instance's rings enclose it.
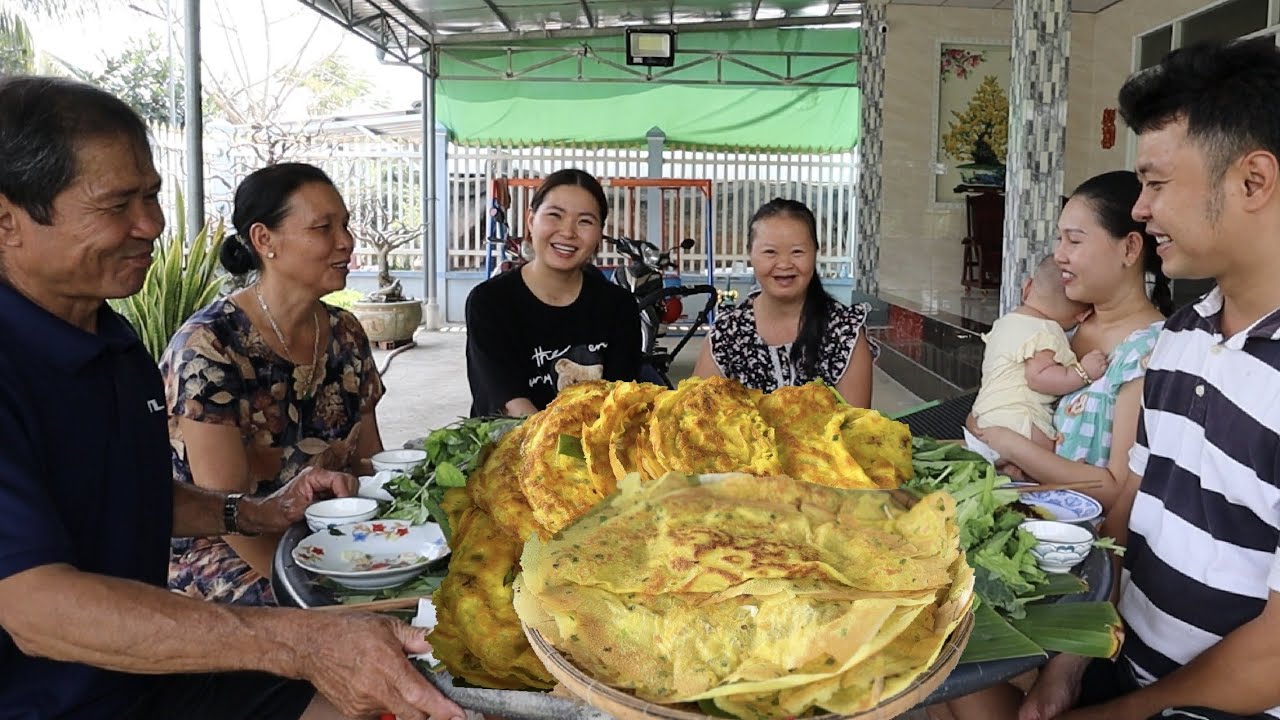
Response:
[[[326,310],[330,340],[310,397],[307,373],[276,355],[233,302],[216,300],[183,324],[160,360],[175,479],[192,482],[179,418],[239,429],[255,496],[275,492],[305,468],[348,469],[361,415],[384,389],[360,322]],[[269,579],[221,538],[174,538],[169,588],[218,602],[275,605]]]

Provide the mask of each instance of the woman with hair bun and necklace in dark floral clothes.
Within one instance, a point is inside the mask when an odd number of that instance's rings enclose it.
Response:
[[[177,479],[269,495],[307,469],[358,473],[383,448],[369,338],[351,313],[320,302],[347,284],[348,219],[333,182],[311,165],[271,165],[237,188],[238,234],[221,261],[257,279],[197,311],[160,363]],[[175,539],[169,587],[274,605],[278,539]]]

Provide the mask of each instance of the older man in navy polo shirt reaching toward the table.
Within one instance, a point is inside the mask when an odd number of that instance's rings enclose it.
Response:
[[[142,287],[159,190],[127,105],[0,81],[0,719],[461,717],[406,660],[428,646],[404,624],[164,589],[170,536],[279,532],[352,488],[173,482],[160,374],[104,302]]]

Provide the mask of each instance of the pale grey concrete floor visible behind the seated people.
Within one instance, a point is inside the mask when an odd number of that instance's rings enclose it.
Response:
[[[465,418],[471,407],[467,387],[466,331],[419,331],[417,346],[401,350],[387,364],[388,351],[374,351],[387,396],[378,405],[378,425],[385,447],[425,436],[429,430]],[[695,338],[672,365],[672,379],[689,377],[701,350]],[[899,413],[920,404],[920,398],[876,369],[872,406],[882,413]]]

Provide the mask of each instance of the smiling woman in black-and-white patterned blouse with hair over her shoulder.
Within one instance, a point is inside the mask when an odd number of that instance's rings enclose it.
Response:
[[[777,197],[751,217],[748,252],[760,286],[716,318],[694,375],[721,375],[772,392],[822,379],[850,405],[870,407],[879,347],[863,332],[870,307],[846,306],[822,287],[818,222]]]

